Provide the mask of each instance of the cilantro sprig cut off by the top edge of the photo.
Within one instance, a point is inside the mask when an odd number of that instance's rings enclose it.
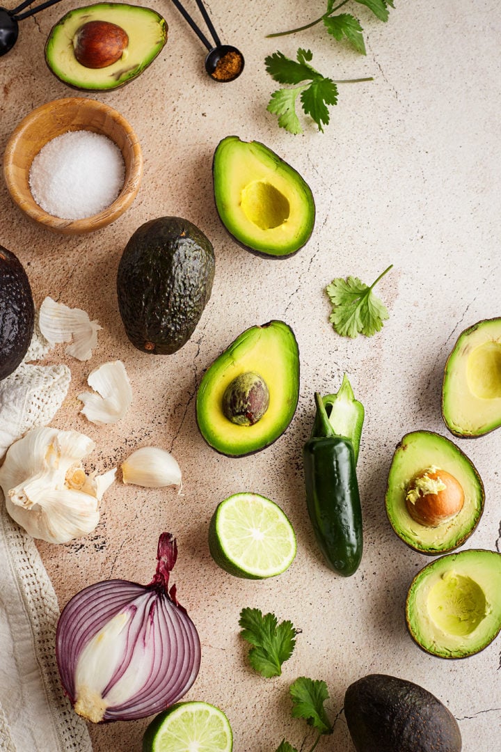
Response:
[[[288,34],[295,34],[296,32],[303,32],[306,29],[311,29],[312,26],[316,26],[318,23],[323,23],[327,33],[330,34],[337,41],[346,40],[351,46],[362,55],[367,54],[365,48],[364,35],[360,21],[349,13],[336,14],[340,8],[343,8],[349,0],[343,0],[343,2],[335,4],[335,0],[327,0],[327,10],[321,17],[316,18],[310,23],[306,23],[304,26],[298,26],[297,29],[289,29],[287,32],[277,32],[276,34],[268,34],[268,38],[283,37]],[[359,5],[365,5],[369,8],[373,14],[381,21],[388,21],[389,11],[388,8],[394,8],[393,0],[354,0]]]

